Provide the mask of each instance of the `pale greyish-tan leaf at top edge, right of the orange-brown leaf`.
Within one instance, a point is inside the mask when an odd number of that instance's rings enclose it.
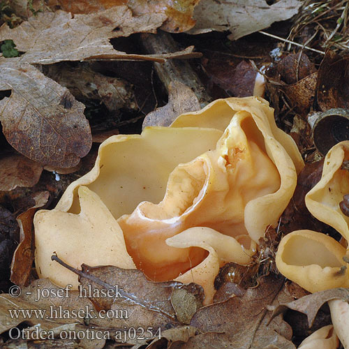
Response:
[[[230,31],[230,40],[269,27],[274,22],[288,20],[297,14],[302,1],[281,0],[272,6],[265,0],[201,0],[194,8],[195,27],[191,34],[207,31]]]

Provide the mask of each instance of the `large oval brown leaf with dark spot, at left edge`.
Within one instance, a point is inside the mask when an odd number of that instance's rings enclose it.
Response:
[[[12,89],[0,101],[3,134],[17,151],[43,165],[70,168],[91,149],[84,105],[68,89],[19,58],[0,59],[0,89]]]

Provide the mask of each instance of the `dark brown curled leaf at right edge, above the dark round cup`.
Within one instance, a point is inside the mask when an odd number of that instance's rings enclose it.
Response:
[[[349,107],[349,55],[326,52],[318,71],[317,94],[318,105],[323,111]]]

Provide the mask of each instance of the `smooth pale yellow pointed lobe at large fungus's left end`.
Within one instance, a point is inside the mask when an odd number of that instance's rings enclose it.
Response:
[[[117,265],[134,269],[128,255],[122,230],[110,211],[93,191],[85,186],[78,190],[80,214],[62,211],[40,210],[36,214],[38,229],[36,239],[36,266],[38,276],[50,277],[59,286],[79,285],[77,276],[51,260],[54,253],[71,267],[80,269],[82,262],[87,265]],[[96,238],[98,237],[98,239]]]

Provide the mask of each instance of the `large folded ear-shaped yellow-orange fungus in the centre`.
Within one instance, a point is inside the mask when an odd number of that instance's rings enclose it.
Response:
[[[211,299],[219,267],[251,260],[258,239],[288,205],[302,167],[295,142],[276,127],[267,102],[256,97],[215,101],[181,115],[170,128],[113,136],[101,144],[94,168],[68,186],[57,207],[36,214],[38,274],[64,283],[59,265],[56,271],[45,268],[53,251],[68,263],[69,253],[75,253],[75,266],[87,262],[73,238],[84,228],[64,223],[65,217],[84,215],[77,192],[86,186],[110,210],[127,253],[149,279],[179,276],[188,282],[185,273],[195,270],[190,281],[202,284]],[[50,230],[53,224],[57,230]],[[65,242],[57,244],[53,235],[60,230]],[[96,240],[100,234],[96,229]],[[96,259],[94,265],[106,264],[103,253]],[[209,260],[211,272],[200,278]],[[117,259],[107,263],[120,266]]]

